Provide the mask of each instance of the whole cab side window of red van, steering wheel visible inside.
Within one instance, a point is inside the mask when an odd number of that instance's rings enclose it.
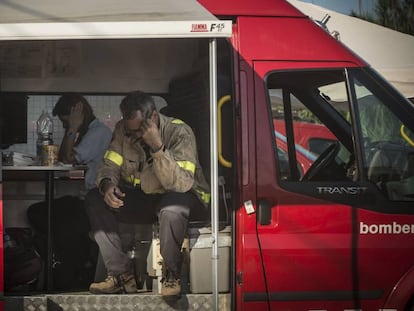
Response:
[[[267,77],[278,178],[281,184],[369,182],[389,200],[412,201],[413,132],[366,72],[350,72]]]

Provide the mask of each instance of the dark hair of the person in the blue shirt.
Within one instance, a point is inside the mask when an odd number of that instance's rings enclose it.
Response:
[[[52,114],[53,116],[68,116],[72,107],[74,107],[79,102],[82,103],[84,116],[82,125],[79,129],[79,135],[81,138],[88,131],[89,123],[95,119],[92,107],[85,97],[76,93],[62,95],[53,108]],[[78,142],[79,141],[80,139]]]

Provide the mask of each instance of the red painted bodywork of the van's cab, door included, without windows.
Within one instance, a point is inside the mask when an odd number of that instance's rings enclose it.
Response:
[[[364,310],[378,310],[379,305],[402,310],[414,288],[414,256],[412,251],[402,256],[401,248],[410,250],[412,239],[358,235],[358,226],[387,223],[390,216],[286,191],[275,178],[276,162],[269,159],[274,152],[273,129],[264,122],[268,119],[264,82],[270,72],[366,67],[367,63],[285,1],[199,2],[214,15],[234,21],[234,97],[241,111],[236,143],[240,208],[234,227],[235,309],[343,310],[363,301]],[[304,126],[295,132],[305,137],[302,146],[309,149],[311,131]],[[326,131],[318,135],[335,139]],[[249,200],[258,204],[259,198],[272,204],[269,225],[257,224],[256,214],[248,214],[243,206]],[[414,219],[396,215],[395,221],[413,223]],[[398,246],[393,243],[396,238],[401,242]],[[390,252],[395,252],[390,262],[395,268],[383,276],[381,258],[388,258]],[[394,289],[384,293],[383,288]],[[312,300],[321,293],[324,299]],[[349,293],[355,297],[346,296]],[[338,299],[341,294],[343,300]]]

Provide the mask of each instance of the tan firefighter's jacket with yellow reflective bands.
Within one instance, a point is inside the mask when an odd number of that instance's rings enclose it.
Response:
[[[164,148],[146,152],[141,141],[128,136],[124,121],[117,123],[112,141],[97,174],[116,184],[140,187],[144,193],[194,192],[207,205],[209,186],[198,162],[194,133],[183,121],[159,114]]]

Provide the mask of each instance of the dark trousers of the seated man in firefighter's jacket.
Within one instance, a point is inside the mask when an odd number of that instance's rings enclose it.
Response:
[[[181,246],[187,232],[190,211],[202,213],[203,205],[191,192],[148,195],[140,189],[121,190],[126,196],[123,198],[124,206],[120,209],[106,205],[103,196],[96,189],[90,191],[85,199],[91,230],[108,275],[132,272],[131,260],[122,247],[120,224],[149,224],[158,218],[164,265],[178,277],[182,264]]]

